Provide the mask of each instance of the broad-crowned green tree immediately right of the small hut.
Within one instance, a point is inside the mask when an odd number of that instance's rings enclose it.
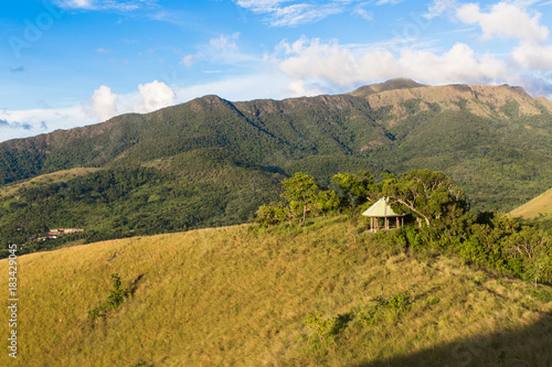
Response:
[[[382,192],[391,198],[390,204],[400,204],[410,211],[420,227],[423,222],[431,226],[436,219],[454,220],[468,208],[461,190],[442,172],[414,170],[397,180],[389,180]]]

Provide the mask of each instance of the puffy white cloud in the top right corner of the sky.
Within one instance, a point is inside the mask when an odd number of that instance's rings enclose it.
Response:
[[[477,3],[467,3],[460,6],[456,13],[464,23],[478,24],[484,40],[499,37],[544,42],[548,39],[548,28],[539,24],[541,14],[530,14],[516,3],[501,1],[489,12],[481,12]]]

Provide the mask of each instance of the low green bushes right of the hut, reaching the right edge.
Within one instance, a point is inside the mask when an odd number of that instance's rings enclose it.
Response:
[[[524,278],[552,282],[552,240],[538,226],[524,225],[503,214],[485,214],[450,237],[449,230],[406,226],[386,235],[396,244],[405,242],[417,255],[456,253],[468,263]],[[484,278],[478,282],[484,282]]]

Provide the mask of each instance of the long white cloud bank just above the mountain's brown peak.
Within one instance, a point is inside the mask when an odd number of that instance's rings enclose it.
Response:
[[[291,44],[283,42],[279,47],[282,71],[294,82],[302,82],[290,85],[296,95],[308,94],[309,86],[320,83],[350,88],[399,76],[436,84],[491,83],[507,71],[505,62],[492,55],[478,55],[464,43],[456,43],[442,54],[405,48],[399,55],[369,46],[351,50],[337,42],[306,37]]]

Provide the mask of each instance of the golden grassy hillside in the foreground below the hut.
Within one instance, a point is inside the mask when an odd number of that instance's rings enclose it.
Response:
[[[278,233],[280,230],[280,233]],[[518,280],[457,261],[418,261],[342,218],[306,229],[248,226],[137,237],[32,253],[19,261],[20,357],[10,366],[543,366],[552,302]],[[7,260],[0,288],[7,289]],[[134,296],[95,330],[87,312],[109,274]],[[406,292],[403,311],[352,320],[321,347],[305,325]],[[548,288],[550,292],[550,288]],[[6,293],[4,293],[6,294]],[[7,309],[0,333],[8,335]],[[506,354],[505,354],[506,353]],[[0,365],[8,353],[0,354]],[[524,365],[524,364],[523,364]]]

